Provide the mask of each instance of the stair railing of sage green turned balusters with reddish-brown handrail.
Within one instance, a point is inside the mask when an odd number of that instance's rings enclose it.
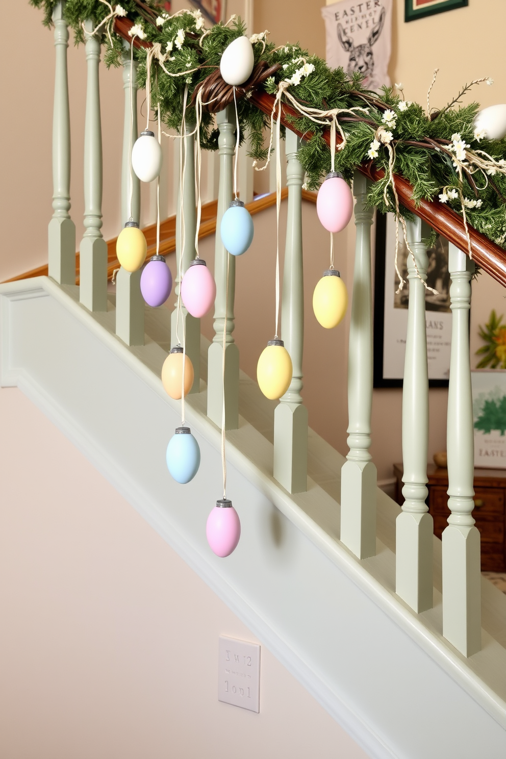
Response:
[[[55,213],[49,225],[50,274],[61,284],[72,281],[72,222],[70,209],[70,128],[68,118],[68,83],[66,48],[68,30],[62,18],[62,3],[55,7],[55,115],[53,139],[53,178]],[[123,22],[124,23],[124,22]],[[93,22],[86,22],[93,30]],[[124,32],[126,35],[126,32]],[[128,40],[129,41],[129,40]],[[100,133],[98,41],[86,38],[88,81],[86,90],[86,125],[84,150],[85,227],[80,245],[80,301],[90,310],[107,308],[107,249],[102,238],[102,143]],[[130,135],[137,136],[137,114],[130,118],[130,61],[124,58],[125,122],[123,156],[123,199],[128,187],[130,157],[126,143]],[[252,102],[270,115],[272,96],[253,93]],[[128,108],[127,108],[128,104]],[[275,410],[275,446],[273,474],[291,493],[306,490],[307,412],[303,406],[303,262],[302,262],[302,199],[303,170],[297,160],[300,134],[294,129],[288,106],[283,106],[282,121],[288,127],[286,155],[288,158],[288,221],[284,260],[281,326],[285,345],[292,357],[293,379],[288,392]],[[135,109],[134,109],[135,112]],[[232,200],[234,115],[230,106],[217,115],[219,130],[219,187],[218,218],[215,241],[215,337],[209,348],[208,407],[209,418],[222,424],[222,359],[225,349],[225,426],[238,426],[239,353],[233,338],[235,259],[228,254],[219,235],[223,214]],[[181,274],[195,256],[195,185],[194,136],[188,125],[184,136],[186,167],[184,194],[178,202],[178,241],[184,219],[184,250],[178,247],[178,267],[182,254],[182,270],[178,268],[176,295]],[[328,135],[325,136],[328,141]],[[130,148],[129,148],[130,149]],[[350,343],[348,357],[348,445],[347,461],[341,471],[341,540],[359,558],[376,553],[376,467],[369,453],[372,408],[372,282],[371,282],[371,225],[372,209],[366,207],[367,181],[381,177],[366,165],[354,177],[355,250],[352,287]],[[480,556],[479,532],[474,526],[473,511],[473,411],[470,390],[469,309],[470,276],[473,263],[462,250],[467,250],[462,219],[440,203],[423,201],[414,206],[410,185],[395,178],[401,203],[419,218],[408,225],[408,241],[415,262],[408,257],[410,298],[408,308],[406,364],[403,390],[403,458],[405,502],[397,523],[398,595],[416,612],[432,606],[432,518],[426,508],[426,462],[428,437],[428,370],[425,335],[426,248],[423,222],[429,223],[450,240],[452,342],[451,369],[448,391],[448,506],[451,516],[442,537],[443,551],[443,634],[465,656],[479,650],[480,626]],[[241,185],[242,187],[242,185]],[[245,181],[244,193],[249,192]],[[134,203],[130,214],[139,216],[134,185]],[[181,192],[181,187],[180,187]],[[122,203],[122,218],[126,206]],[[473,256],[486,271],[506,284],[506,255],[498,246],[470,228]],[[181,244],[178,242],[178,244]],[[228,271],[228,292],[227,292]],[[127,273],[127,272],[124,272]],[[125,280],[125,281],[123,281]],[[128,280],[128,281],[127,281]],[[119,275],[117,291],[117,333],[130,345],[140,344],[143,337],[135,330],[143,317],[136,301],[138,283],[134,278]],[[137,314],[137,316],[136,316]],[[187,352],[196,374],[192,392],[200,390],[200,321],[184,311],[180,319],[186,327]],[[171,342],[180,342],[176,335],[176,314],[171,317]],[[126,326],[125,326],[126,325]],[[223,328],[225,326],[225,345]],[[136,342],[138,341],[138,342]]]

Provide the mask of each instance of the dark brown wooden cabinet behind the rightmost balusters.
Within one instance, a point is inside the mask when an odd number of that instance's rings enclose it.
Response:
[[[396,500],[402,505],[401,464],[394,465]],[[448,470],[429,464],[429,512],[434,518],[434,534],[441,537],[450,515],[448,509]],[[506,499],[506,470],[475,469],[473,518],[481,534],[482,572],[506,572],[506,530],[504,500]]]

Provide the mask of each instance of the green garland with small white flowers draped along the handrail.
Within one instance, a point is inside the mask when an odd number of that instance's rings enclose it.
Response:
[[[30,0],[30,3],[43,8],[44,24],[50,25],[56,0]],[[121,15],[137,25],[139,36],[159,43],[162,54],[166,55],[163,65],[156,58],[152,61],[151,105],[156,109],[159,103],[164,124],[178,131],[185,87],[188,87],[190,102],[196,87],[219,66],[225,48],[244,34],[244,24],[233,18],[228,24],[217,24],[206,30],[200,11],[169,17],[153,0],[121,0],[119,5]],[[110,16],[111,8],[117,5],[109,6],[101,0],[67,0],[64,18],[74,30],[76,43],[84,39],[83,21],[93,18],[97,26]],[[114,25],[102,24],[97,36],[105,46],[105,63],[121,65],[123,56],[130,53],[125,52],[124,40],[114,33]],[[412,185],[415,201],[439,197],[486,237],[506,247],[506,139],[490,141],[476,133],[473,121],[479,111],[478,103],[459,105],[461,96],[471,85],[464,87],[448,106],[427,115],[422,106],[407,102],[401,90],[396,94],[394,88],[384,87],[380,95],[366,90],[360,74],[348,77],[342,68],[332,70],[321,58],[310,55],[298,45],[275,48],[263,35],[255,35],[252,40],[255,63],[266,61],[269,66],[281,65],[263,85],[268,93],[276,95],[280,83],[291,80],[291,95],[306,108],[324,112],[366,109],[366,112],[357,110],[338,115],[346,143],[336,153],[335,168],[347,181],[357,166],[369,160],[385,171],[385,178],[369,188],[371,206],[378,206],[383,212],[395,209],[390,163],[393,171]],[[137,49],[134,55],[139,62],[138,84],[145,87],[146,49]],[[241,141],[248,135],[250,156],[256,161],[265,161],[269,156],[265,144],[269,118],[248,97],[240,99],[237,106]],[[187,122],[193,121],[194,109],[188,107]],[[330,151],[323,139],[328,126],[301,115],[294,119],[294,127],[303,134],[310,134],[300,148],[299,159],[306,171],[306,187],[315,190],[331,168]],[[206,113],[200,138],[204,149],[217,149],[218,133],[212,116]],[[480,161],[482,165],[478,166],[476,162]],[[410,216],[402,207],[400,212]]]

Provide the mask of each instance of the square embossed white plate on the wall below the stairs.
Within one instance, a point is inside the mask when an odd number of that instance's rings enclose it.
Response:
[[[260,647],[256,643],[219,637],[218,701],[260,710]]]

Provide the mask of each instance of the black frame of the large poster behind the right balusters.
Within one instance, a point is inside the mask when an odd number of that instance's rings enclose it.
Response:
[[[385,348],[385,263],[387,240],[387,216],[376,213],[376,255],[374,267],[374,331],[372,386],[375,388],[402,387],[403,379],[383,376],[383,352]],[[448,379],[429,379],[429,387],[448,387]]]

